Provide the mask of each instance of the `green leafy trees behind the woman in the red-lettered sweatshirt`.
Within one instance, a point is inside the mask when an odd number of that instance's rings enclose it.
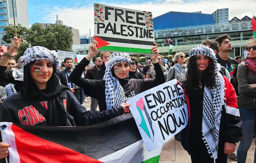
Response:
[[[3,36],[3,40],[6,43],[11,43],[15,35],[14,25],[11,24],[5,27],[4,30],[6,35]],[[21,38],[24,43],[22,47],[20,46],[18,49],[18,55],[20,54],[19,51],[22,52],[24,49],[26,50],[29,45],[44,46],[50,50],[72,51],[73,33],[71,29],[65,25],[53,24],[43,28],[41,24],[35,23],[30,29],[27,29],[18,24],[17,36]]]

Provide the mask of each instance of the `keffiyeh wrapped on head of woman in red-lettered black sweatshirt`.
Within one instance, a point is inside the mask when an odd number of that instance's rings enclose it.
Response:
[[[23,57],[20,60],[21,66],[24,67],[26,64],[36,60],[51,61],[56,66],[56,69],[61,67],[61,61],[58,59],[57,55],[43,46],[33,46],[26,49]]]

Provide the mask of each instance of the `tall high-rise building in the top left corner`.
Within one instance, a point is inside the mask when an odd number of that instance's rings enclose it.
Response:
[[[0,0],[0,43],[5,35],[4,27],[14,24],[14,15],[12,9],[12,0]],[[27,0],[13,0],[16,25],[21,24],[23,27],[29,28],[29,16],[27,11]]]

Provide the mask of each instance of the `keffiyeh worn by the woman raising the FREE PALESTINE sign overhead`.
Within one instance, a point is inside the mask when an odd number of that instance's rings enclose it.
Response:
[[[106,70],[103,79],[105,80],[107,110],[125,102],[125,91],[119,80],[113,76],[111,71],[115,64],[122,62],[131,64],[132,60],[130,55],[127,53],[114,52],[110,55],[110,60],[105,63]]]

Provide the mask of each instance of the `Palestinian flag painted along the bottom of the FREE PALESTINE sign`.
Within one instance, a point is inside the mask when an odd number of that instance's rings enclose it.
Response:
[[[152,54],[151,48],[154,46],[154,42],[149,41],[119,39],[100,36],[95,36],[94,39],[99,43],[97,49],[101,51]],[[141,48],[142,45],[144,47],[143,49]]]

